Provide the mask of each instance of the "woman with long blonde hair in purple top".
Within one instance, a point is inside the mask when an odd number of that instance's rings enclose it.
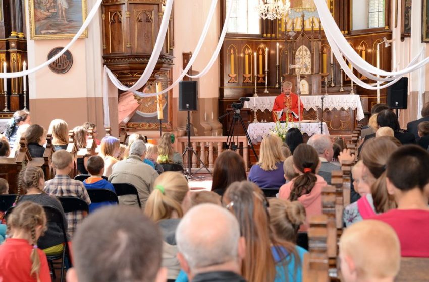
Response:
[[[260,188],[275,188],[285,184],[283,161],[285,157],[281,150],[282,139],[277,135],[267,135],[260,145],[259,162],[252,166],[249,181]]]

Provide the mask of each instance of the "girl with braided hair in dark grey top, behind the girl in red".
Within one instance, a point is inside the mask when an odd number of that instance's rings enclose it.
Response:
[[[15,203],[25,201],[34,202],[42,206],[51,206],[61,213],[67,230],[67,220],[60,201],[43,192],[45,179],[40,167],[27,166],[20,171],[18,176],[18,196]],[[20,196],[23,194],[23,196]],[[61,226],[55,222],[48,222],[47,230],[37,242],[37,245],[46,255],[61,254],[64,249],[64,237]]]

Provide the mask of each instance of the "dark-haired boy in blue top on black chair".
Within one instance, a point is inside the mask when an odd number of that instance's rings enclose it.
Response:
[[[104,161],[100,156],[91,156],[86,164],[89,174],[91,175],[83,181],[86,189],[108,189],[115,192],[112,183],[101,177],[104,173]],[[95,209],[102,206],[113,205],[116,202],[99,202],[89,205],[89,212],[92,213]]]

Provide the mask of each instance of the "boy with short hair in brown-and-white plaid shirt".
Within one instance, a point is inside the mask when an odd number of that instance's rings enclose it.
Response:
[[[55,168],[55,177],[45,182],[44,192],[51,196],[78,197],[88,205],[91,203],[83,183],[71,179],[69,173],[73,169],[73,156],[66,150],[58,150],[52,154],[52,165]],[[73,235],[77,224],[83,220],[83,212],[70,212],[66,214],[68,228],[67,232]]]

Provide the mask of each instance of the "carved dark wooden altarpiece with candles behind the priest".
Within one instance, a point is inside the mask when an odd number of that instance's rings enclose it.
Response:
[[[351,7],[353,0],[339,1],[326,0],[340,30],[349,44],[367,62],[376,65],[376,47],[383,41],[383,37],[392,38],[389,25],[377,29],[352,30]],[[356,0],[354,0],[356,1]],[[293,1],[292,1],[293,2]],[[291,3],[292,3],[291,2]],[[327,42],[325,33],[320,27],[320,20],[314,7],[308,8],[310,0],[302,1],[305,7],[292,7],[293,13],[289,13],[281,20],[260,20],[260,34],[227,33],[221,50],[221,85],[219,95],[219,113],[230,109],[233,102],[240,97],[249,97],[254,93],[254,52],[257,53],[258,66],[262,62],[265,65],[265,48],[269,49],[267,78],[262,70],[257,69],[257,94],[259,96],[277,96],[280,93],[281,80],[293,83],[293,91],[297,89],[297,75],[300,72],[302,94],[320,95],[324,92],[321,87],[322,80],[328,80],[328,94],[350,93],[350,79],[341,72],[339,64],[334,59],[333,80],[335,86],[331,87],[331,48]],[[390,0],[386,0],[386,23],[390,19]],[[293,3],[301,3],[296,1]],[[302,4],[303,5],[303,4]],[[226,15],[226,3],[222,1],[222,15]],[[240,9],[240,8],[238,8]],[[276,43],[280,44],[279,76],[276,76]],[[260,60],[259,60],[260,59]],[[300,69],[289,68],[290,65],[306,64]],[[391,50],[382,48],[380,53],[380,66],[382,69],[391,69]],[[355,72],[355,75],[358,75]],[[340,92],[340,80],[343,79],[344,92]],[[372,83],[364,77],[360,77],[367,83]],[[264,93],[265,80],[267,90]],[[276,87],[278,85],[278,87]],[[376,101],[376,91],[370,91],[361,87],[354,87],[354,92],[360,95],[365,115],[369,115],[370,109]],[[382,102],[386,100],[386,90],[381,91]],[[320,110],[319,110],[320,111]],[[314,110],[304,111],[304,119],[316,119]],[[243,120],[251,122],[253,113],[249,109],[242,110]],[[258,112],[259,120],[272,121],[270,111]],[[323,121],[329,127],[331,134],[351,134],[356,124],[355,113],[351,109],[325,110]],[[227,135],[230,123],[228,117],[223,121],[223,134]],[[241,133],[240,127],[235,128]],[[235,131],[237,132],[237,131]]]

